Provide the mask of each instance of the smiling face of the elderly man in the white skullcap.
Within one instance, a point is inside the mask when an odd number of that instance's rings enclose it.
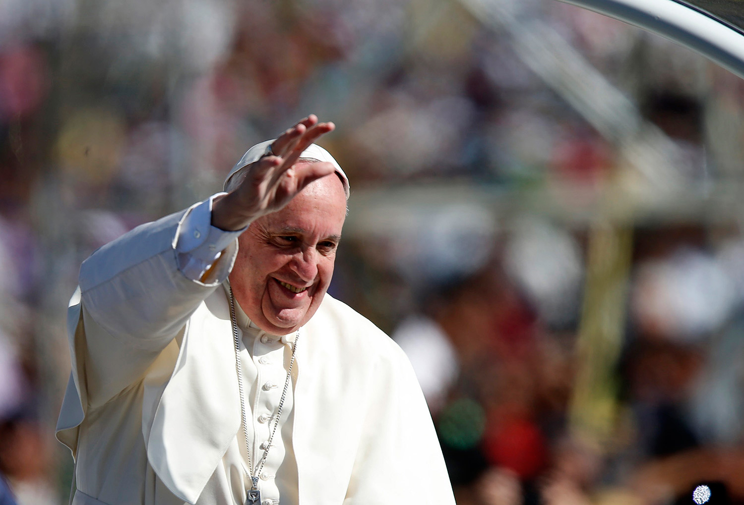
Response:
[[[344,187],[331,175],[240,235],[230,285],[257,327],[286,335],[315,314],[333,276],[345,218]]]

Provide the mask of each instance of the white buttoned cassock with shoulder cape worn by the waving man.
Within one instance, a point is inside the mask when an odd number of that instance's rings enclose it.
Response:
[[[80,269],[68,309],[72,372],[57,424],[76,460],[76,505],[246,500],[224,288],[237,239],[208,282],[188,278],[177,245],[192,233],[196,207],[135,228]],[[266,335],[242,311],[238,320],[255,462],[294,335]],[[295,367],[261,472],[263,505],[455,503],[423,394],[387,335],[326,295],[300,330]]]

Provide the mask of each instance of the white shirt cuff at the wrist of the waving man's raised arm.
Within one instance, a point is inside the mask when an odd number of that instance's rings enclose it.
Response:
[[[205,272],[222,256],[222,251],[246,231],[247,227],[237,231],[225,231],[211,225],[212,202],[217,196],[224,194],[226,193],[214,194],[190,208],[179,225],[176,236],[176,259],[179,270],[191,280],[202,280]],[[225,271],[224,276],[226,277],[228,273],[229,271]],[[222,275],[218,274],[217,277]]]

